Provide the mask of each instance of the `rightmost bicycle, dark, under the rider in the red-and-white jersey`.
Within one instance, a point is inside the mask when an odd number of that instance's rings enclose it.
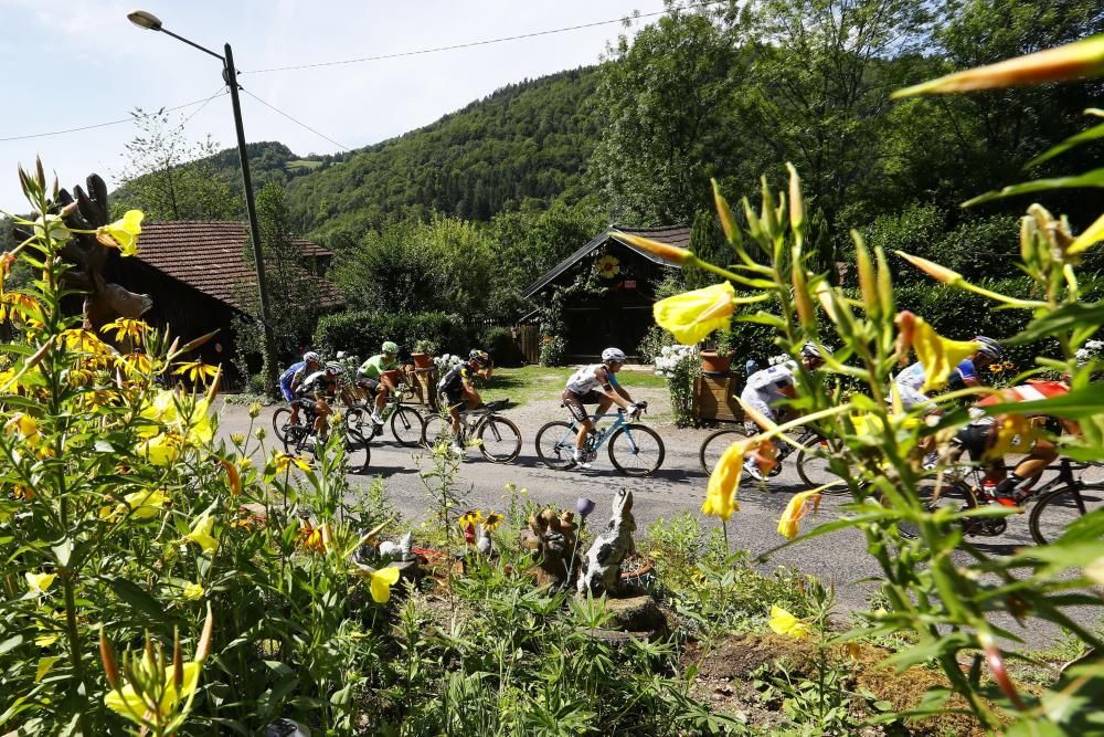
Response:
[[[1085,471],[1094,465],[1078,464],[1075,466],[1070,459],[1063,457],[1059,461],[1058,474],[1054,477],[1041,486],[1031,487],[1029,495],[1025,497],[1020,506],[1029,501],[1034,502],[1031,506],[1031,513],[1028,515],[1028,528],[1036,543],[1039,545],[1052,543],[1085,515],[1104,509],[1104,483],[1086,483],[1073,474],[1075,470]],[[975,468],[975,476],[977,473],[978,471]],[[927,487],[921,494],[928,512],[937,509],[940,503],[947,499],[948,496],[954,497],[954,503],[959,504],[963,512],[989,504],[998,504],[996,497],[988,493],[984,486],[979,487],[976,484],[967,483],[963,475],[954,476],[945,481],[943,485]],[[960,519],[959,524],[964,534],[969,536],[996,537],[1008,528],[1006,517],[967,517]],[[913,523],[899,524],[898,529],[902,537],[909,539],[914,539],[919,534]]]

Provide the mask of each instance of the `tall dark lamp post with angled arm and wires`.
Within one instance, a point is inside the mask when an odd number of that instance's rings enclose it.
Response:
[[[272,394],[276,391],[276,356],[274,352],[276,341],[273,338],[273,325],[269,319],[268,287],[265,284],[265,259],[261,248],[261,225],[257,223],[257,206],[253,199],[253,177],[250,175],[250,157],[245,150],[245,127],[242,124],[242,103],[237,97],[237,69],[234,66],[234,52],[227,43],[223,46],[225,56],[216,54],[210,49],[205,49],[167,30],[161,25],[161,20],[157,15],[145,10],[132,10],[127,13],[127,19],[138,28],[171,35],[173,39],[182,41],[193,49],[199,49],[203,53],[210,54],[222,62],[222,78],[226,83],[226,86],[230,87],[230,99],[234,106],[234,127],[237,129],[237,152],[242,159],[242,182],[245,186],[245,211],[250,217],[250,240],[253,241],[253,259],[257,270],[257,292],[261,297],[261,324],[264,328],[265,391]]]

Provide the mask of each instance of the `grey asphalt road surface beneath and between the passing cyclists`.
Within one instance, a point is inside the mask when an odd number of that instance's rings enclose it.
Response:
[[[638,390],[637,399],[647,399],[658,417],[670,417],[666,390]],[[272,414],[276,408],[265,408],[257,424],[269,431],[272,438]],[[220,433],[248,431],[250,418],[245,407],[225,404],[221,411]],[[683,513],[693,514],[703,530],[719,526],[714,517],[702,515],[708,476],[702,471],[698,452],[701,441],[711,429],[678,429],[670,423],[644,422],[659,432],[666,446],[666,457],[661,468],[652,476],[628,477],[618,473],[609,463],[603,448],[590,470],[554,471],[538,457],[534,438],[538,430],[551,420],[566,419],[565,410],[558,401],[534,401],[520,408],[507,409],[503,414],[521,430],[522,449],[516,461],[496,464],[486,461],[476,449],[469,450],[460,466],[458,482],[467,493],[470,508],[503,510],[508,505],[507,484],[528,489],[529,498],[541,505],[556,505],[574,508],[578,497],[587,497],[597,503],[590,518],[592,526],[603,526],[608,519],[609,504],[614,492],[628,488],[633,492],[633,514],[637,524],[637,539],[646,535],[649,525],[669,520]],[[388,498],[403,515],[401,526],[416,527],[431,516],[429,498],[420,478],[418,468],[431,467],[422,449],[399,445],[388,428],[384,435],[371,443],[371,465],[367,475],[350,475],[353,488],[367,488],[371,478],[380,476],[384,481]],[[793,456],[792,456],[793,457]],[[729,522],[729,540],[734,549],[746,549],[753,558],[766,554],[785,543],[778,535],[778,518],[796,492],[805,491],[793,463],[784,464],[782,473],[768,484],[749,483],[745,477],[739,501],[740,512]],[[354,492],[355,493],[355,492]],[[838,518],[842,505],[850,497],[825,496],[819,513],[806,517],[803,530]],[[1017,547],[1031,544],[1027,526],[1027,515],[1009,519],[1008,530],[994,538],[973,538],[972,543],[991,554],[1008,554]],[[964,556],[965,561],[965,556]],[[817,576],[836,586],[837,601],[841,612],[867,607],[867,598],[875,590],[881,569],[866,551],[864,538],[854,529],[842,529],[809,541],[778,550],[765,562],[757,562],[760,570],[768,572],[778,566],[793,566],[805,573]],[[999,618],[999,624],[1025,638],[1034,646],[1044,645],[1057,634],[1038,623],[1031,630],[1019,627],[1010,618]],[[1006,621],[1007,620],[1007,621]]]

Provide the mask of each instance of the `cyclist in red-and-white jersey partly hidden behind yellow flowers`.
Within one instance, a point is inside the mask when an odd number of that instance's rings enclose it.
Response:
[[[1008,506],[1016,506],[1030,494],[1031,486],[1043,468],[1058,457],[1058,445],[1048,439],[1048,433],[1066,432],[1080,434],[1081,429],[1072,420],[1063,420],[1045,414],[1010,412],[997,417],[984,413],[984,408],[1006,402],[1029,402],[1051,397],[1060,397],[1070,391],[1065,381],[1029,381],[1017,387],[1001,389],[978,401],[972,409],[974,420],[958,431],[955,436],[962,449],[969,451],[974,461],[984,460],[986,477],[984,484],[995,483],[992,496]],[[1005,475],[1004,449],[997,448],[999,435],[1019,435],[1021,443],[1031,443],[1030,453],[1022,459],[1010,474]],[[1009,443],[1010,444],[1010,443]],[[1010,449],[1009,449],[1010,450]]]

